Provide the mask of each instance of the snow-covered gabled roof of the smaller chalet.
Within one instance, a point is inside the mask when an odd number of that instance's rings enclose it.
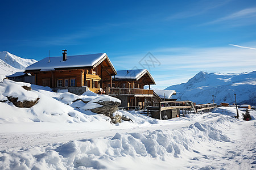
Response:
[[[112,78],[114,80],[138,80],[146,73],[148,74],[148,76],[150,76],[152,82],[155,83],[154,78],[147,71],[147,69],[118,70],[117,75],[112,76]]]

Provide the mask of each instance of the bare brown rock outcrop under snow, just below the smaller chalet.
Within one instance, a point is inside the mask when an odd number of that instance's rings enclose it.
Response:
[[[98,107],[98,108],[93,108],[90,109],[90,111],[94,112],[94,113],[98,113],[98,114],[104,114],[105,116],[110,117],[115,111],[117,111],[117,107],[121,104],[117,101],[98,101],[98,102],[94,102],[97,104],[102,105],[102,107]]]

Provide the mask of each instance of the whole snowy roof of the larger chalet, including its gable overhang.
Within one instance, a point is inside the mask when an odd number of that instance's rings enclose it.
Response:
[[[112,62],[106,53],[87,54],[78,56],[67,56],[67,60],[63,61],[63,57],[46,57],[40,61],[28,66],[25,72],[30,71],[53,71],[53,70],[70,70],[70,69],[94,69],[105,61],[108,65],[110,74],[115,75]]]

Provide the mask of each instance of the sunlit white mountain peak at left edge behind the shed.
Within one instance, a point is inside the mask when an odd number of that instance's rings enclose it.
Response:
[[[35,62],[35,59],[21,58],[6,51],[0,52],[0,74],[10,75],[16,71],[24,71]]]

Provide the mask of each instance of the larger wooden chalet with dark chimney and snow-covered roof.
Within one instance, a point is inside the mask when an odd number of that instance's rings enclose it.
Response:
[[[106,53],[44,58],[26,68],[35,84],[81,95],[86,90],[98,93],[117,74]]]

